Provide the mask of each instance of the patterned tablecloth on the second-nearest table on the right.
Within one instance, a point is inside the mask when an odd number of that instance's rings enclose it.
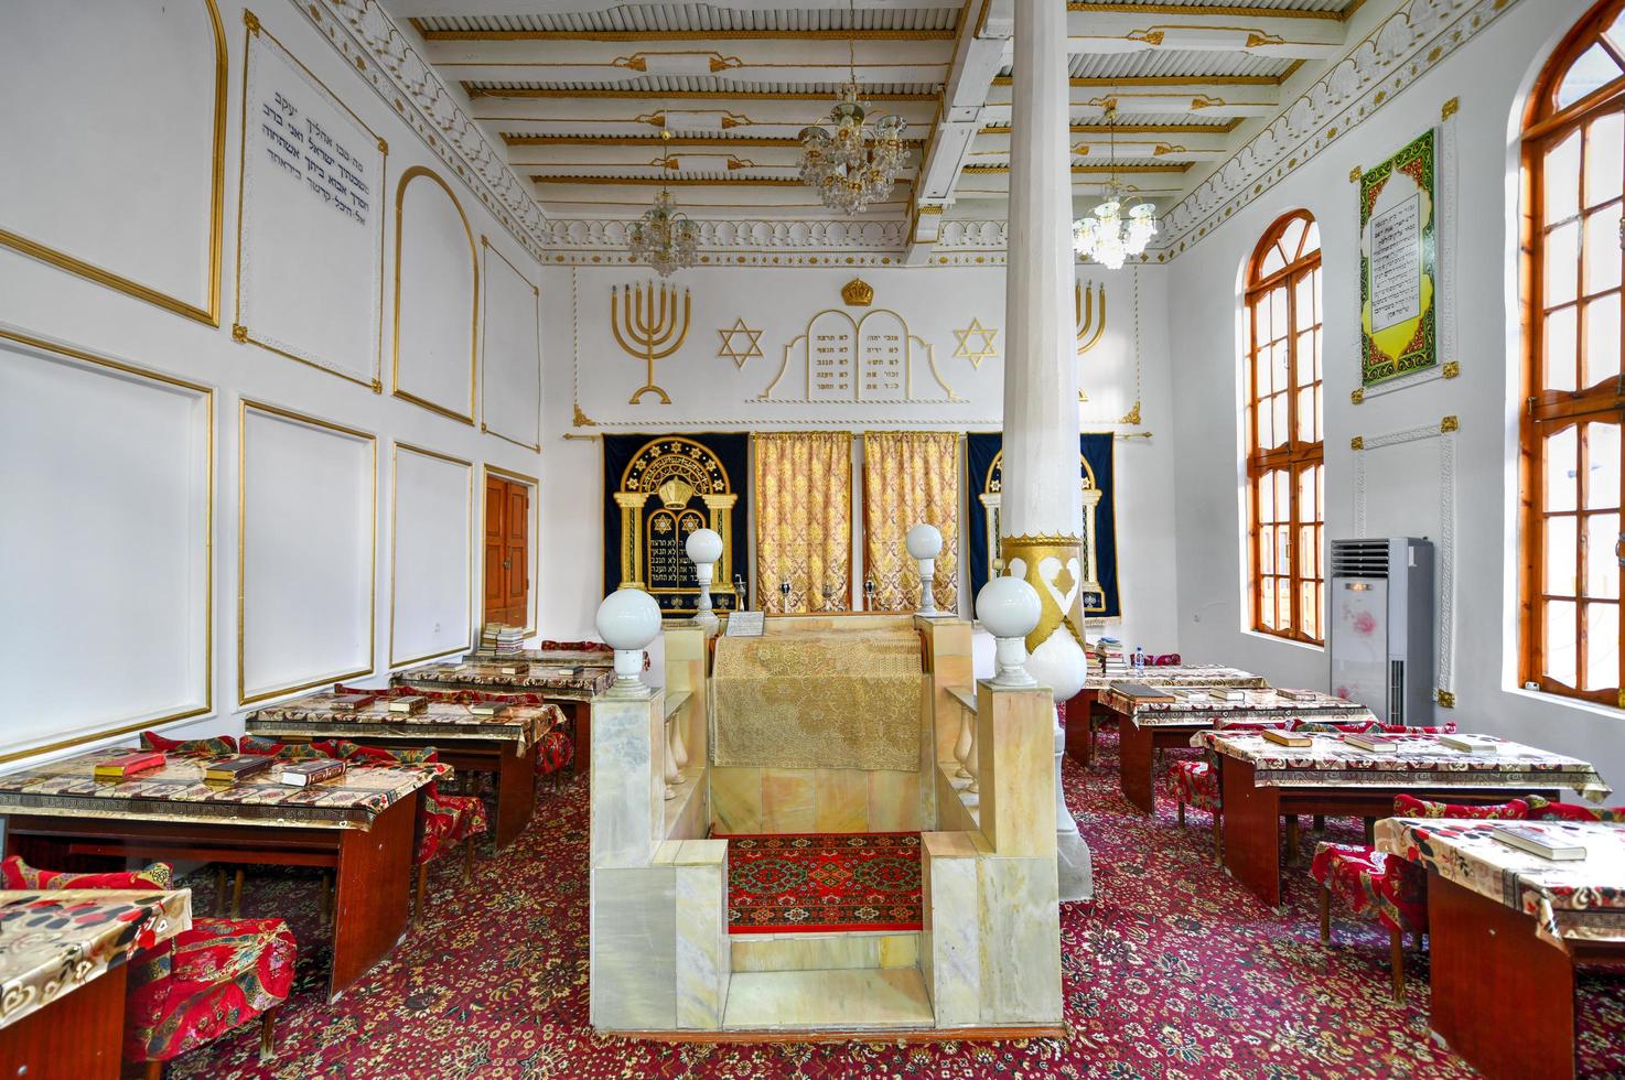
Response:
[[[1393,750],[1362,750],[1341,736],[1310,736],[1306,747],[1258,734],[1199,731],[1191,745],[1248,762],[1259,788],[1571,788],[1601,802],[1610,788],[1589,762],[1497,739],[1495,754],[1453,750],[1433,736],[1384,736]],[[1479,736],[1490,737],[1490,736]]]

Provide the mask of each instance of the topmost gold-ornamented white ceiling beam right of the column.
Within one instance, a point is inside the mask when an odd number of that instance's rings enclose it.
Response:
[[[1178,49],[1329,60],[1342,54],[1346,31],[1341,19],[1297,18],[1297,13],[1098,3],[1069,6],[1066,49],[1074,55]]]

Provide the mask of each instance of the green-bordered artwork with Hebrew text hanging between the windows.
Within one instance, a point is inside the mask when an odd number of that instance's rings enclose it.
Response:
[[[1438,365],[1438,132],[1360,174],[1360,387]]]

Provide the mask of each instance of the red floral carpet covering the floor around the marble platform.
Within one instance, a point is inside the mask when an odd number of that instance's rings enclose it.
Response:
[[[518,1080],[531,1077],[1471,1077],[1428,1036],[1427,958],[1412,953],[1406,1005],[1388,997],[1388,935],[1339,918],[1316,937],[1316,893],[1287,875],[1282,913],[1212,864],[1207,819],[1159,801],[1144,819],[1118,796],[1115,742],[1066,797],[1095,856],[1095,900],[1061,913],[1066,1038],[1014,1043],[691,1044],[601,1038],[587,1023],[587,801],[544,784],[530,832],[462,883],[436,867],[429,916],[335,1005],[312,877],[255,875],[247,914],[289,914],[301,976],[260,1064],[254,1025],[177,1062],[174,1077]],[[1334,823],[1341,825],[1341,823]],[[1357,843],[1357,827],[1334,830]],[[1313,843],[1305,836],[1305,848]],[[198,875],[200,914],[213,903]],[[1580,1069],[1625,1077],[1625,979],[1581,981]],[[1516,1038],[1516,1033],[1508,1033]]]

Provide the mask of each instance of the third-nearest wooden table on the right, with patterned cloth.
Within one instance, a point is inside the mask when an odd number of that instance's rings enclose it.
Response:
[[[1279,690],[1240,690],[1242,700],[1230,702],[1199,687],[1178,689],[1188,690],[1190,697],[1178,702],[1138,702],[1113,687],[1100,695],[1100,703],[1123,718],[1118,723],[1118,784],[1123,797],[1142,814],[1155,810],[1155,752],[1186,747],[1199,731],[1230,724],[1285,726],[1294,719],[1329,724],[1376,719],[1363,705],[1320,692],[1311,698],[1287,698]]]

